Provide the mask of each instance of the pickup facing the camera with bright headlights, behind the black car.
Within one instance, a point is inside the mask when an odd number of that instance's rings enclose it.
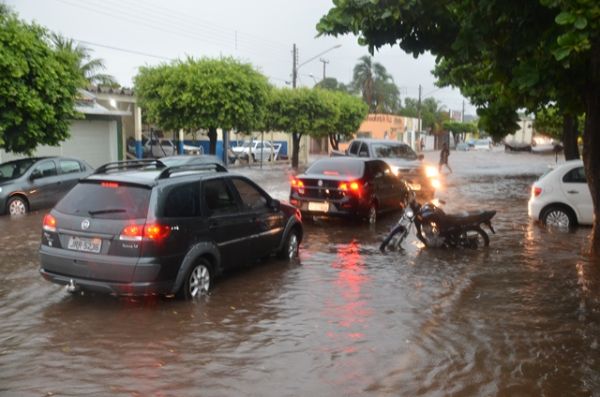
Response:
[[[398,141],[359,138],[350,142],[346,156],[384,160],[397,176],[403,178],[420,199],[430,200],[441,187],[438,167],[423,162],[410,146]]]

